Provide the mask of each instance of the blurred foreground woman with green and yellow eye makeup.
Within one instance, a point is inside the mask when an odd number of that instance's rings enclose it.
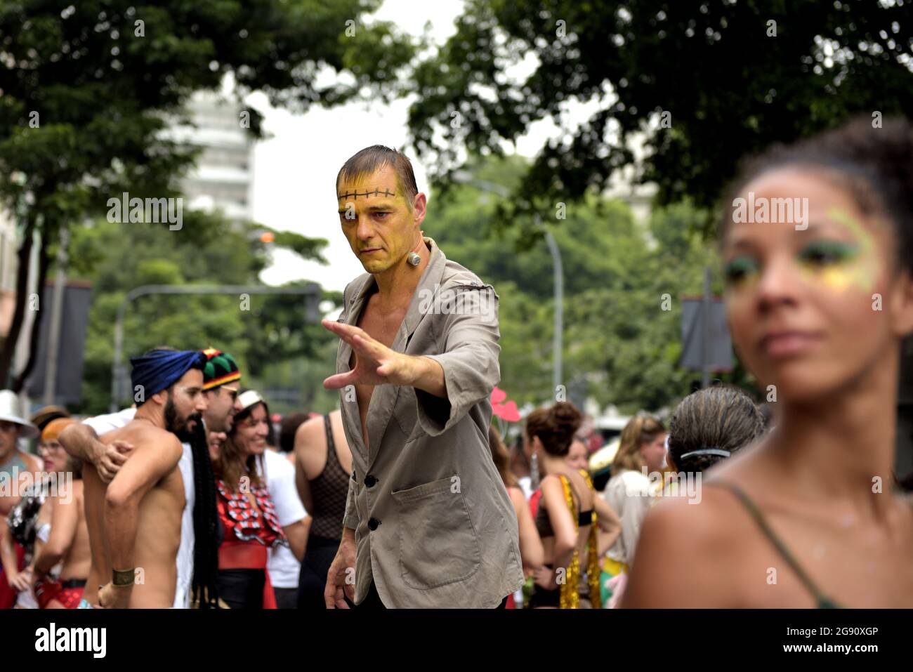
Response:
[[[774,149],[731,196],[729,327],[775,426],[708,473],[698,505],[647,516],[624,606],[913,606],[913,508],[892,475],[913,127],[861,118]]]

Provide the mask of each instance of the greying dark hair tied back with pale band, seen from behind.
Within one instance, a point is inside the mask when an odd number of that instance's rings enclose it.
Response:
[[[732,385],[713,385],[678,404],[669,422],[669,457],[680,471],[704,471],[725,457],[689,453],[719,448],[732,454],[763,433],[764,415],[748,394]]]

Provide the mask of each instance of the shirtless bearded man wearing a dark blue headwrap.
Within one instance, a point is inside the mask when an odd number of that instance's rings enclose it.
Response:
[[[133,446],[106,484],[95,469],[83,475],[92,569],[85,599],[102,608],[173,605],[184,510],[183,449],[206,410],[202,352],[151,351],[131,358],[131,383],[141,390],[136,415],[103,436]],[[140,570],[137,572],[137,570]],[[100,582],[109,583],[100,586]]]

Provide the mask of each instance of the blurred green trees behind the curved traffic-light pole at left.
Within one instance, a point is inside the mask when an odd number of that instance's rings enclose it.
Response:
[[[131,289],[259,284],[270,251],[258,236],[263,228],[200,212],[185,213],[180,232],[164,225],[105,220],[80,226],[70,243],[69,270],[71,278],[92,282],[92,303],[79,411],[98,413],[110,404],[114,321]],[[194,240],[184,231],[192,232]],[[289,247],[298,247],[289,236],[294,234],[286,234]],[[339,292],[325,293],[323,299],[341,304]],[[132,301],[125,313],[124,356],[159,345],[188,350],[211,345],[236,357],[246,386],[297,387],[298,382],[281,379],[277,372],[289,362],[322,358],[327,347],[335,345],[328,331],[304,320],[304,300],[297,296],[144,296]],[[306,398],[315,394],[304,393]]]

